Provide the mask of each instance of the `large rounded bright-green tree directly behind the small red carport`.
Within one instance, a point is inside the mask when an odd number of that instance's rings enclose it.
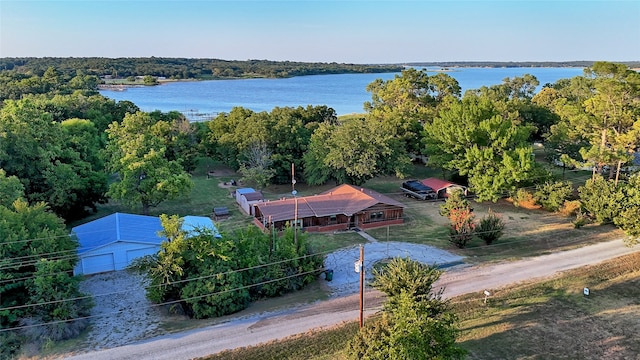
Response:
[[[467,97],[425,125],[429,164],[467,176],[479,200],[496,201],[536,172],[531,126],[504,118],[485,98]]]

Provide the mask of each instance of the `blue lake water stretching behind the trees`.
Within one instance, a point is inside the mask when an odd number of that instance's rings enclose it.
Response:
[[[501,84],[506,77],[534,75],[546,83],[582,75],[583,68],[455,68],[447,74],[454,77],[462,94],[468,89]],[[389,80],[400,73],[340,74],[299,76],[288,79],[242,79],[172,82],[159,86],[128,88],[125,91],[101,90],[100,93],[116,101],[129,100],[142,111],[176,110],[192,120],[229,112],[241,106],[256,112],[271,111],[275,107],[327,105],[338,115],[362,113],[365,101],[371,100],[366,91],[376,79]],[[435,72],[430,75],[435,74]]]

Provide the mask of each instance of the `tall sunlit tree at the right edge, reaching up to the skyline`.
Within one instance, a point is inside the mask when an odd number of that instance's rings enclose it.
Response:
[[[590,166],[594,175],[608,169],[608,177],[617,179],[640,139],[640,74],[622,64],[596,62],[585,75],[554,87],[557,98],[547,107],[560,122],[551,127],[549,145],[563,163]]]

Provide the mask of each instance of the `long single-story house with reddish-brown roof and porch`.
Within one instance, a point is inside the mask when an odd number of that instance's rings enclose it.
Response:
[[[402,203],[373,190],[340,185],[318,195],[259,202],[254,223],[262,229],[294,224],[305,231],[374,228],[403,223]]]

